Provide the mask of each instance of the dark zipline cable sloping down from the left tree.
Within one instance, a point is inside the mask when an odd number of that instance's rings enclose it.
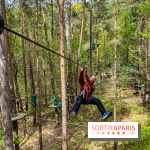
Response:
[[[20,33],[18,33],[18,32],[15,32],[15,31],[9,29],[8,27],[5,27],[5,26],[4,26],[4,29],[7,30],[7,31],[9,31],[9,32],[11,32],[11,33],[13,33],[13,34],[15,34],[15,35],[17,35],[17,36],[19,36],[19,37],[21,37],[21,38],[23,38],[23,39],[25,39],[25,40],[27,40],[27,41],[29,41],[29,42],[31,42],[31,43],[33,43],[33,44],[35,44],[35,45],[37,45],[37,46],[39,46],[39,47],[42,47],[42,48],[46,49],[46,50],[49,51],[49,52],[54,53],[54,54],[57,55],[57,56],[63,57],[63,58],[65,58],[66,60],[68,60],[68,61],[70,61],[70,62],[72,62],[72,63],[74,63],[74,64],[76,64],[76,65],[79,65],[79,66],[83,67],[81,64],[79,64],[79,63],[77,63],[77,62],[75,62],[75,61],[73,61],[73,60],[71,60],[71,59],[69,59],[69,58],[67,58],[67,57],[65,57],[65,56],[63,56],[63,55],[61,55],[61,54],[55,52],[55,51],[53,51],[53,50],[51,50],[50,48],[47,48],[46,46],[44,46],[44,45],[42,45],[42,44],[40,44],[40,43],[38,43],[38,42],[36,42],[36,41],[34,41],[34,40],[31,40],[31,39],[27,38],[26,36],[24,36],[24,35],[22,35],[22,34],[20,34]]]

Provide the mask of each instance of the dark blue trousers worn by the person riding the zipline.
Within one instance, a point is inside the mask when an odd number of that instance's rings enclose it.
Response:
[[[87,101],[86,101],[86,99],[83,98],[82,95],[77,97],[76,103],[74,104],[71,112],[74,111],[74,112],[78,113],[81,104],[84,104],[84,105],[88,105],[88,104],[96,105],[98,110],[100,111],[100,113],[102,115],[103,115],[104,112],[106,112],[106,110],[104,108],[104,105],[102,104],[100,99],[98,99],[98,98],[96,98],[94,96],[89,96]]]

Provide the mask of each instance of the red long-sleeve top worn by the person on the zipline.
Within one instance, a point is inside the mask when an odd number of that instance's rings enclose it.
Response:
[[[85,77],[85,81],[84,81],[84,77]],[[83,90],[85,90],[84,96],[87,101],[88,96],[91,95],[93,93],[93,91],[95,90],[95,86],[93,84],[94,81],[91,82],[88,75],[84,74],[84,71],[81,71],[80,76],[79,76],[79,83],[80,83],[80,93],[83,92]]]

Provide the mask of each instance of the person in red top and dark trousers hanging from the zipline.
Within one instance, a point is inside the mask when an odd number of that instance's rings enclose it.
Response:
[[[77,97],[76,103],[73,105],[70,114],[73,118],[76,117],[81,104],[96,105],[98,107],[98,110],[102,114],[103,119],[106,119],[112,115],[112,112],[107,112],[105,110],[105,107],[100,101],[100,99],[93,96],[93,92],[95,90],[95,86],[94,86],[95,80],[96,80],[95,76],[89,78],[89,76],[87,75],[87,67],[83,67],[83,69],[81,69],[80,76],[79,76],[80,95]]]

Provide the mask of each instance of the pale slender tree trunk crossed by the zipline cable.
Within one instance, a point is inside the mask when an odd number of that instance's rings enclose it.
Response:
[[[64,0],[58,1],[59,27],[60,27],[60,54],[64,56]],[[65,60],[60,58],[61,68],[61,94],[62,94],[62,149],[67,150],[67,103],[66,103],[66,79]]]

